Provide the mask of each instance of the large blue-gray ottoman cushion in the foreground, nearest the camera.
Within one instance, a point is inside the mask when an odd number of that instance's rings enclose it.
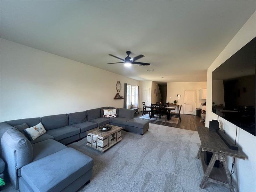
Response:
[[[61,191],[92,169],[93,160],[65,148],[21,168],[21,176],[34,191]],[[86,182],[86,181],[85,181]]]

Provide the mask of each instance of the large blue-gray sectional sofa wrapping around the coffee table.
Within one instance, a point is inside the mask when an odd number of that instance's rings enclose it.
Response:
[[[102,107],[83,112],[19,119],[0,123],[1,157],[16,189],[23,191],[76,191],[92,177],[93,159],[65,145],[87,136],[86,131],[104,124],[143,135],[148,121],[133,119],[133,111],[117,109],[116,118],[103,117]],[[14,128],[42,123],[46,133],[29,141]]]

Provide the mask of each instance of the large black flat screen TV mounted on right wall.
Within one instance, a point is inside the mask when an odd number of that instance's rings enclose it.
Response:
[[[212,112],[256,136],[256,37],[212,71]]]

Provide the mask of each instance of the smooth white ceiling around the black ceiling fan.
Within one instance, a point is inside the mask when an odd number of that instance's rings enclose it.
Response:
[[[256,1],[2,0],[1,37],[137,80],[206,81],[255,10]],[[151,65],[107,64],[126,51]]]

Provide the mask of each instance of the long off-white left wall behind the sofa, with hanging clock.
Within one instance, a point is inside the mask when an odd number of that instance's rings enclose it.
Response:
[[[105,64],[105,63],[104,63]],[[1,39],[0,121],[124,107],[116,82],[139,81]]]

